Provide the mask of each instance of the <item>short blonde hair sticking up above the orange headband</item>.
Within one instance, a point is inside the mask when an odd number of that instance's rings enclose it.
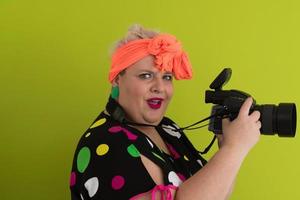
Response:
[[[157,30],[146,29],[139,24],[133,24],[128,28],[127,34],[124,38],[116,41],[110,48],[110,55],[112,55],[116,49],[123,46],[124,44],[138,39],[153,38],[159,34]]]

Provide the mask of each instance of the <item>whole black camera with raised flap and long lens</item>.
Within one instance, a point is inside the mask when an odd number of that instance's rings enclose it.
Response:
[[[222,119],[228,117],[234,120],[244,101],[251,95],[239,90],[222,90],[232,74],[230,68],[225,68],[210,84],[210,89],[205,92],[205,103],[215,104],[212,107],[212,118],[208,130],[222,134]],[[296,134],[296,105],[294,103],[280,103],[257,105],[253,99],[250,113],[258,110],[261,114],[261,134],[280,137],[295,137]]]

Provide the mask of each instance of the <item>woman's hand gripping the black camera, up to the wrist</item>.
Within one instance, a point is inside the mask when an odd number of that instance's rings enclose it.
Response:
[[[260,112],[253,111],[249,115],[252,105],[252,98],[249,97],[240,108],[236,119],[222,120],[222,146],[236,148],[237,151],[248,152],[259,140],[261,122],[259,121]]]

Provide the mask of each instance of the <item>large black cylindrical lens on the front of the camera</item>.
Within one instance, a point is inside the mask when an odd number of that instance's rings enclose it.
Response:
[[[254,110],[260,111],[261,114],[261,134],[274,135],[277,133],[280,137],[295,137],[296,104],[256,105]]]

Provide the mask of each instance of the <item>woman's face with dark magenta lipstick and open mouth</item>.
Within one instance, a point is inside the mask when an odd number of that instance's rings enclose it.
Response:
[[[159,124],[173,95],[172,79],[171,72],[155,67],[153,56],[127,68],[114,81],[120,89],[118,102],[126,118],[136,123]]]

